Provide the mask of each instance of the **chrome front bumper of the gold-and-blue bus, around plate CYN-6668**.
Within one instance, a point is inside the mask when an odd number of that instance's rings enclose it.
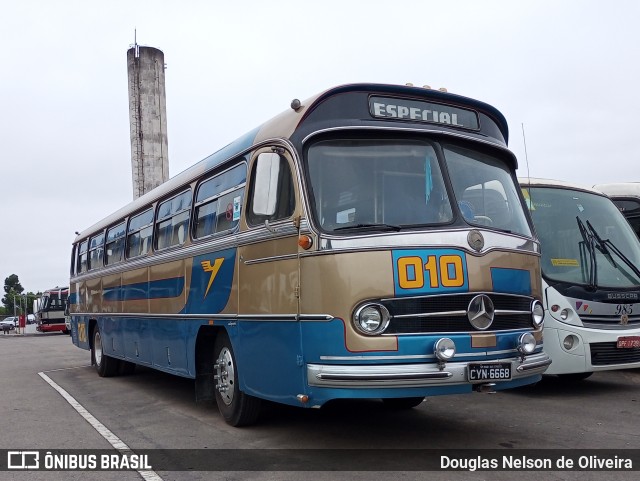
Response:
[[[471,363],[484,364],[510,362],[511,379],[469,381],[467,372]],[[502,383],[542,374],[551,364],[543,351],[529,355],[523,362],[519,357],[490,361],[447,362],[442,369],[437,363],[385,364],[385,365],[332,365],[307,364],[309,386],[351,388],[433,387],[455,384]]]

